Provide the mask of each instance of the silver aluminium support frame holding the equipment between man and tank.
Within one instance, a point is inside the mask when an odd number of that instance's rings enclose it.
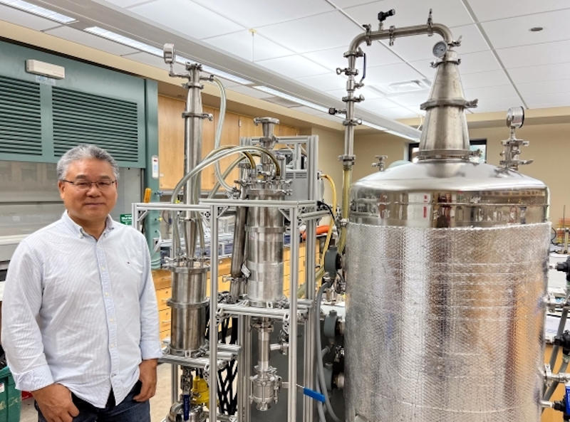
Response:
[[[316,147],[316,145],[314,145]],[[313,152],[315,152],[313,150]],[[316,152],[314,154],[314,159],[316,159]],[[309,185],[310,196],[316,198],[316,165],[311,166],[314,169],[314,182]],[[309,175],[312,179],[312,174]],[[314,343],[312,342],[312,331],[311,326],[314,326],[314,317],[316,315],[316,310],[314,309],[314,290],[315,290],[315,274],[314,271],[307,271],[307,297],[305,300],[298,300],[297,298],[297,286],[299,283],[299,221],[305,220],[307,224],[307,234],[309,239],[314,239],[314,230],[316,226],[316,219],[321,218],[323,213],[316,211],[316,201],[314,199],[307,201],[264,201],[264,200],[230,200],[230,199],[207,199],[201,201],[200,204],[167,204],[167,203],[135,203],[133,204],[133,221],[135,229],[140,230],[144,216],[151,210],[163,210],[163,211],[190,211],[204,213],[209,221],[210,233],[211,233],[211,245],[217,245],[218,230],[217,230],[217,219],[219,213],[223,213],[228,207],[232,206],[264,206],[270,208],[277,208],[283,211],[289,211],[289,221],[291,230],[291,273],[289,275],[290,285],[291,285],[291,298],[289,300],[289,309],[279,309],[279,308],[255,308],[255,307],[244,307],[242,305],[218,305],[217,303],[217,293],[218,293],[218,266],[215,263],[218,262],[218,248],[210,248],[210,262],[214,265],[210,268],[210,297],[209,297],[209,317],[210,317],[210,329],[209,329],[209,356],[198,357],[198,358],[187,358],[187,357],[162,357],[161,362],[168,362],[173,366],[173,373],[177,370],[178,365],[182,366],[193,366],[202,369],[207,369],[209,367],[210,371],[212,368],[219,368],[220,365],[223,367],[226,364],[226,359],[232,359],[235,353],[239,351],[239,371],[241,378],[239,379],[238,389],[239,399],[238,406],[238,421],[247,422],[249,420],[249,394],[247,391],[249,389],[249,369],[251,367],[251,346],[249,344],[250,338],[247,329],[250,325],[250,320],[252,316],[264,316],[264,317],[284,317],[287,313],[289,315],[301,315],[301,320],[297,318],[289,326],[289,391],[288,391],[288,405],[287,405],[287,416],[289,422],[296,422],[296,384],[297,384],[297,325],[299,322],[304,322],[305,324],[305,342],[304,342],[304,357],[305,357],[305,368],[304,368],[304,384],[309,388],[313,386],[313,372],[314,372]],[[306,211],[306,212],[303,212]],[[312,233],[312,236],[311,236]],[[307,268],[314,268],[315,261],[315,243],[314,241],[307,243],[306,250],[306,265]],[[231,313],[234,315],[239,315],[239,344],[238,347],[227,347],[225,345],[218,344],[217,338],[217,316],[218,310],[220,312]],[[249,311],[249,312],[248,312]],[[259,315],[257,315],[259,314]],[[306,315],[306,317],[304,317]],[[312,320],[312,322],[311,322]],[[312,337],[311,337],[312,336]],[[249,359],[249,360],[248,360]],[[173,376],[173,379],[177,379],[177,376]],[[175,386],[174,381],[172,386]],[[177,384],[176,384],[177,391]],[[209,402],[217,403],[217,376],[212,374],[209,377]],[[175,395],[175,393],[173,393]],[[175,397],[177,399],[177,397]],[[304,399],[304,422],[312,421],[312,403],[309,400]],[[174,400],[175,401],[175,400]],[[210,408],[210,415],[215,414],[216,420],[218,420],[217,406],[213,409]],[[214,413],[212,413],[214,412]],[[211,419],[212,420],[212,419]]]

